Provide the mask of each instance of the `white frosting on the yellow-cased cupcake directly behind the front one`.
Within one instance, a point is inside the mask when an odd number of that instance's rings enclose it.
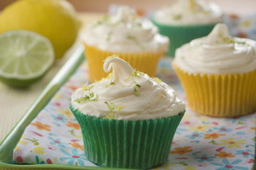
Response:
[[[169,43],[152,22],[138,17],[128,6],[121,6],[115,15],[89,25],[83,39],[100,50],[120,53],[166,52]]]

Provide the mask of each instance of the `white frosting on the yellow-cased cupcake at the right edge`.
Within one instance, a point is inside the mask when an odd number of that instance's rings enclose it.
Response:
[[[176,50],[174,65],[189,73],[232,74],[256,69],[256,41],[232,38],[225,24]]]

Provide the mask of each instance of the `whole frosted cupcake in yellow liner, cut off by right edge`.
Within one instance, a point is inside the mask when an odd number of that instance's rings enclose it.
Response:
[[[197,113],[237,117],[256,110],[256,41],[231,37],[225,24],[178,48],[173,67]]]

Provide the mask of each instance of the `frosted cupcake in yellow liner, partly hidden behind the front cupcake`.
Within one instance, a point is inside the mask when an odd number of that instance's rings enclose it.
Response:
[[[114,15],[107,15],[86,27],[83,41],[90,81],[107,76],[102,70],[102,60],[113,54],[154,76],[159,58],[168,50],[168,38],[161,36],[154,24],[138,17],[128,6],[121,6]]]

